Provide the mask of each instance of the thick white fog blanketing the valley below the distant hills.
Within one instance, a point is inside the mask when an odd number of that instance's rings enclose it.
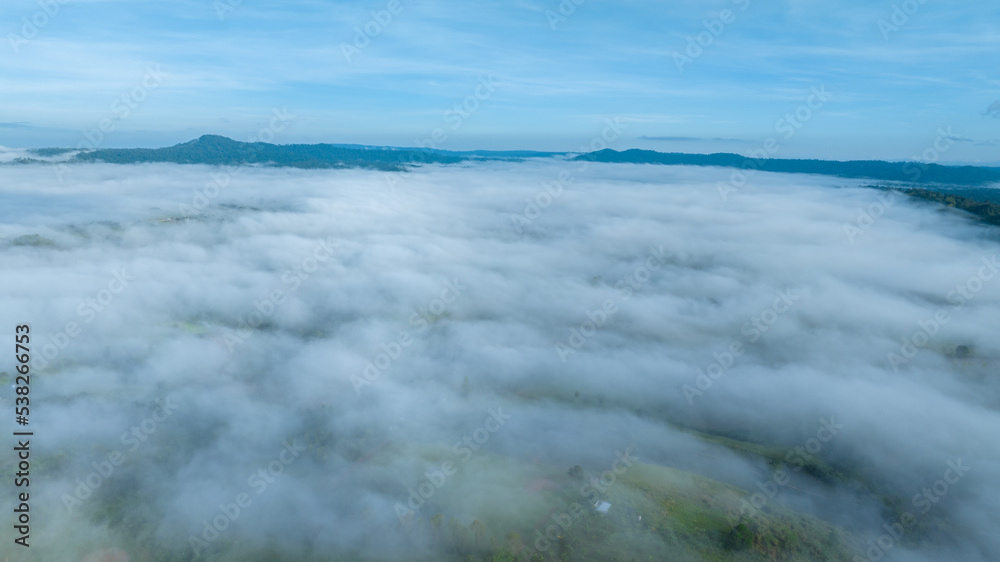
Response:
[[[14,559],[436,559],[414,521],[502,539],[547,509],[525,482],[628,455],[763,489],[766,462],[695,431],[851,475],[769,501],[862,549],[890,497],[949,530],[885,560],[1000,558],[998,231],[862,182],[732,173],[0,168],[0,333],[34,342]]]

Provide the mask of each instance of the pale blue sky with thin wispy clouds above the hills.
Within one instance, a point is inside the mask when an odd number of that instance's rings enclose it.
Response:
[[[1000,162],[995,0],[576,1],[5,0],[0,145]]]

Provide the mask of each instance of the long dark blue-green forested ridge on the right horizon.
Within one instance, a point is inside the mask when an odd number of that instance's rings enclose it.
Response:
[[[977,166],[941,166],[920,162],[885,162],[882,160],[787,160],[753,159],[739,154],[683,154],[653,150],[605,149],[582,154],[577,160],[633,164],[665,164],[680,166],[722,166],[726,168],[758,169],[765,172],[823,174],[842,178],[860,178],[923,184],[979,186],[1000,182],[1000,168]]]

